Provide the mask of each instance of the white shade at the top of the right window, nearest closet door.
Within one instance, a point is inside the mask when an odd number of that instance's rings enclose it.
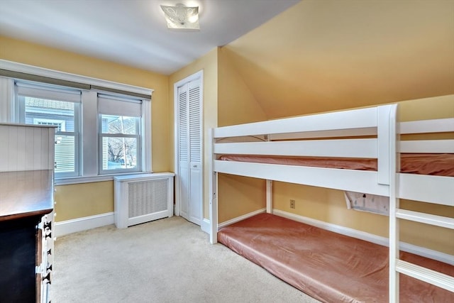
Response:
[[[129,99],[116,99],[99,95],[98,97],[99,114],[118,115],[127,117],[142,116],[142,101]]]

